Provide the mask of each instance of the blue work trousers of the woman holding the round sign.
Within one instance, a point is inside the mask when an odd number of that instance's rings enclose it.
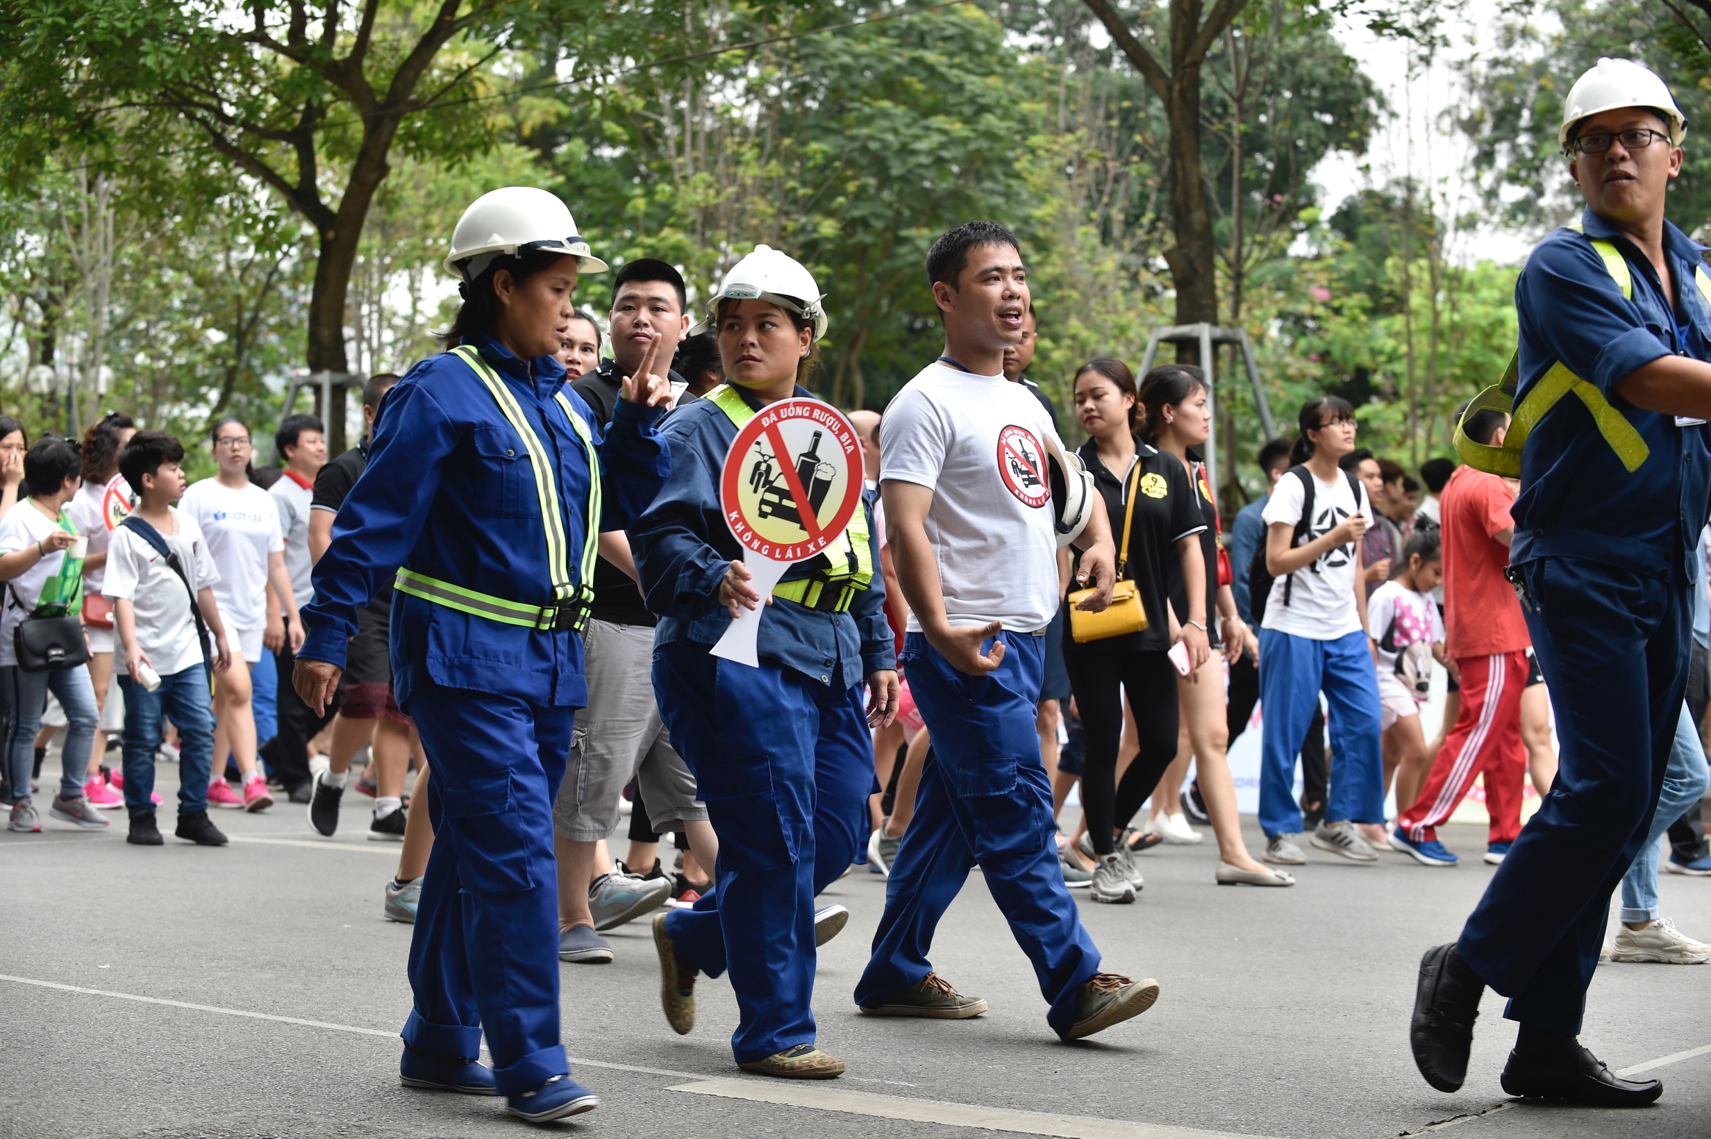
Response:
[[[729,970],[737,1064],[813,1043],[814,894],[866,840],[876,790],[862,686],[672,641],[654,689],[719,835],[717,886],[666,932],[708,977]]]

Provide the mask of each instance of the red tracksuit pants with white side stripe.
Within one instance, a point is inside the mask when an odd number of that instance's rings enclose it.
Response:
[[[1526,653],[1458,657],[1461,715],[1432,761],[1420,799],[1396,824],[1410,840],[1430,841],[1485,775],[1485,811],[1490,841],[1513,843],[1521,833],[1521,788],[1526,783],[1526,746],[1521,742],[1521,689],[1526,688]]]

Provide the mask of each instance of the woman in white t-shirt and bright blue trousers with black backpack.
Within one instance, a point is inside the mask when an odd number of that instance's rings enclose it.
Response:
[[[1338,460],[1355,450],[1355,409],[1336,395],[1307,400],[1290,467],[1271,489],[1266,568],[1275,575],[1259,629],[1259,826],[1266,862],[1300,865],[1294,836],[1295,756],[1324,693],[1331,715],[1331,787],[1312,845],[1377,862],[1355,823],[1384,823],[1379,689],[1367,646],[1360,539],[1372,518],[1367,491]],[[1311,493],[1311,499],[1309,499]],[[1305,520],[1305,523],[1304,523]]]

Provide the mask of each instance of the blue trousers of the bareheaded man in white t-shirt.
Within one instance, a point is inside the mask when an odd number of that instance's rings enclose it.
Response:
[[[932,734],[932,752],[915,790],[915,816],[891,862],[885,917],[856,1004],[876,1002],[932,971],[932,934],[979,864],[1011,935],[1033,963],[1051,1004],[1045,1023],[1063,1035],[1100,958],[1057,865],[1052,788],[1033,727],[1044,638],[1004,633],[1001,640],[1004,660],[984,677],[953,669],[921,633],[903,641],[900,662]]]

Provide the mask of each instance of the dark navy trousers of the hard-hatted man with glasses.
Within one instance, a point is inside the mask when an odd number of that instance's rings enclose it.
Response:
[[[1521,568],[1562,756],[1456,946],[1509,997],[1504,1016],[1548,1031],[1581,1030],[1610,894],[1646,841],[1680,723],[1689,587],[1680,563],[1660,573],[1579,558]]]

